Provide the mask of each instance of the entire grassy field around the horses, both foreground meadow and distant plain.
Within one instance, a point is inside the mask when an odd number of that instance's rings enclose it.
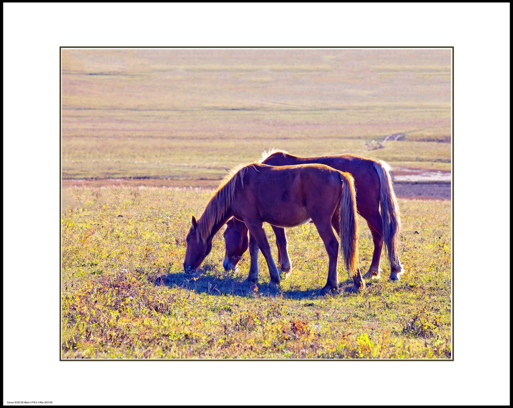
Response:
[[[450,170],[451,51],[62,50],[63,359],[451,357],[450,201],[399,201],[404,278],[383,258],[358,294],[339,265],[318,295],[313,225],[289,230],[277,293],[263,257],[252,287],[249,259],[223,270],[221,234],[183,273],[191,215],[271,148]],[[360,219],[364,272],[371,254]]]

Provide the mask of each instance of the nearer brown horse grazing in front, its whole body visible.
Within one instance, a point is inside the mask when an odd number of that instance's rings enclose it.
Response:
[[[212,238],[232,216],[245,223],[257,253],[251,252],[251,264],[258,262],[258,248],[269,268],[269,287],[277,288],[280,274],[272,258],[263,222],[274,226],[295,227],[312,221],[324,241],[329,257],[328,280],[322,293],[339,288],[337,258],[340,236],[341,252],[353,278],[354,290],[365,287],[358,269],[358,232],[356,192],[348,173],[328,166],[309,164],[273,167],[260,163],[237,168],[221,182],[198,221],[192,217],[187,233],[184,270],[198,268],[212,249]],[[247,282],[258,280],[250,269]]]

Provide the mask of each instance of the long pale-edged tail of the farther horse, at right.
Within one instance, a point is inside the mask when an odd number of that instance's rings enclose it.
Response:
[[[392,178],[388,170],[389,166],[384,161],[375,161],[374,168],[380,177],[381,230],[385,247],[388,250],[391,268],[393,263],[396,265],[400,264],[401,214],[396,193],[393,191]]]

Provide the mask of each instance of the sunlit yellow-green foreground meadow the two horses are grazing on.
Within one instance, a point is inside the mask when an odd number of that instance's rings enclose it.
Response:
[[[383,278],[353,294],[339,263],[341,290],[322,297],[328,260],[311,224],[287,232],[293,272],[279,292],[262,256],[258,285],[242,284],[248,255],[223,270],[221,233],[200,272],[184,274],[191,215],[210,194],[64,190],[63,358],[450,358],[450,201],[399,200],[401,281],[387,280],[383,257]],[[365,271],[372,241],[359,221]]]

